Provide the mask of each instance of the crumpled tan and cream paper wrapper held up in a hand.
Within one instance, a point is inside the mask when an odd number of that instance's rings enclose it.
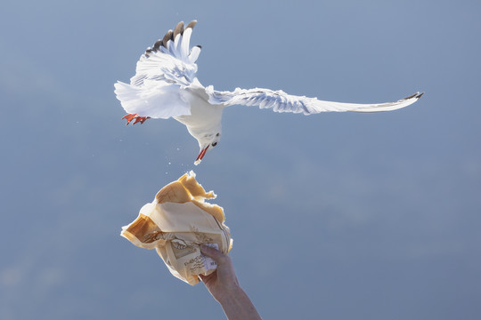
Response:
[[[231,250],[231,232],[224,224],[224,210],[205,199],[214,199],[185,173],[179,180],[160,189],[150,204],[143,205],[139,216],[122,228],[120,236],[146,249],[156,249],[172,275],[188,284],[199,283],[198,275],[209,275],[216,261],[200,253],[200,244]]]

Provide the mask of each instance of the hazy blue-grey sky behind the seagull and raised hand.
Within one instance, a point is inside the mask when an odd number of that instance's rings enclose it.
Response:
[[[194,170],[224,207],[265,319],[481,316],[477,1],[7,1],[0,5],[0,318],[221,319],[203,284],[119,236]],[[375,103],[224,110],[199,166],[175,120],[126,126],[113,92],[198,20],[200,83]]]

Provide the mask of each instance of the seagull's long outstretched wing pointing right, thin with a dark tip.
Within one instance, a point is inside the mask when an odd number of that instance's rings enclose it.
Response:
[[[404,108],[420,99],[423,93],[416,92],[412,96],[378,104],[359,104],[317,100],[305,96],[290,95],[282,91],[269,89],[240,89],[233,92],[218,92],[209,85],[206,88],[209,102],[224,106],[244,105],[258,106],[259,108],[273,108],[276,112],[292,112],[312,115],[326,111],[356,111],[356,112],[378,112]]]

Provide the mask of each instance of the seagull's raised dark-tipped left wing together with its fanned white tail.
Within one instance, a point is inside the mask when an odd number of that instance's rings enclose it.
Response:
[[[200,45],[189,47],[196,23],[193,20],[183,28],[183,22],[179,22],[174,31],[168,30],[140,57],[130,84],[114,84],[117,99],[127,113],[165,119],[191,114],[183,89],[196,81]]]

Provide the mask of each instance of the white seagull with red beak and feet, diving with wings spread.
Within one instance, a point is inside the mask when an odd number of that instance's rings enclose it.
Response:
[[[196,23],[197,20],[193,20],[184,28],[181,21],[174,30],[168,30],[163,39],[141,55],[130,84],[120,81],[114,84],[117,99],[127,113],[123,117],[126,124],[170,117],[185,124],[199,142],[196,165],[219,143],[222,113],[227,106],[258,106],[306,116],[326,111],[378,112],[407,107],[423,94],[416,92],[395,102],[359,104],[323,101],[262,88],[216,91],[212,85],[204,87],[196,77],[195,62],[201,46],[190,47]]]

